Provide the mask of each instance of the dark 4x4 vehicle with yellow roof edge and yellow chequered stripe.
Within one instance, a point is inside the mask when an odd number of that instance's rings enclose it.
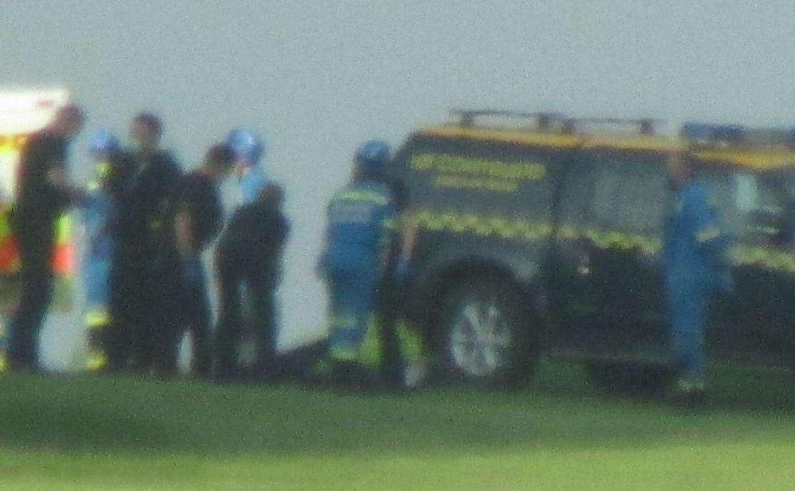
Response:
[[[735,239],[735,292],[712,309],[709,357],[793,366],[789,146],[743,141],[739,128],[693,125],[665,138],[649,120],[458,114],[414,132],[393,176],[420,229],[406,314],[444,372],[522,384],[543,353],[583,360],[600,382],[661,381],[669,357],[659,251],[674,150]],[[492,116],[526,126],[476,124]]]

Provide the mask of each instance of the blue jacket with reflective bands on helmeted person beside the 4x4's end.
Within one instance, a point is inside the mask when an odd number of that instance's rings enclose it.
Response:
[[[362,181],[341,189],[328,205],[324,271],[377,275],[393,239],[394,216],[386,185]]]

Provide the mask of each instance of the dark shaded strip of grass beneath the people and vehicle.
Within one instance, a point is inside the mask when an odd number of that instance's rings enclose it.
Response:
[[[707,409],[689,415],[663,399],[607,396],[588,384],[579,365],[549,362],[533,387],[509,393],[452,387],[353,396],[294,385],[13,376],[0,378],[0,445],[333,455],[791,441],[791,380],[730,370],[715,377]]]

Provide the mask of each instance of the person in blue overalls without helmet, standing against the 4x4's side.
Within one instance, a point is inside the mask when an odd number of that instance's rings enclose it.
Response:
[[[670,347],[679,372],[678,395],[697,400],[704,395],[708,305],[731,283],[726,261],[729,240],[682,155],[670,156],[668,171],[673,192],[665,220],[663,261]]]

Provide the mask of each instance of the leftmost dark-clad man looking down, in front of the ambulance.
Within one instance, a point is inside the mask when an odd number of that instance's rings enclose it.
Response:
[[[80,191],[68,183],[67,146],[83,119],[79,107],[62,107],[21,152],[11,227],[19,248],[22,292],[10,324],[11,369],[39,369],[38,335],[52,299],[55,220],[80,198]]]

